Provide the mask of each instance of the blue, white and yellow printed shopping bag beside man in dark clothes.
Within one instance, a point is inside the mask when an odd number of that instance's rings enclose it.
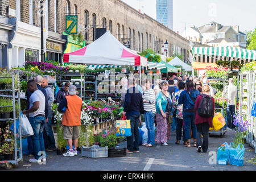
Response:
[[[131,121],[126,119],[125,115],[116,121],[115,136],[131,136]]]

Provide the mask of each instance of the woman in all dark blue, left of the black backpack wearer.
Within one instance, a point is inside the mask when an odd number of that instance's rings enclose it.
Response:
[[[185,129],[185,141],[186,147],[191,147],[190,129],[192,129],[192,137],[194,139],[194,147],[196,147],[196,125],[195,125],[195,114],[194,107],[197,96],[200,95],[198,90],[194,89],[193,81],[187,80],[185,82],[186,90],[180,93],[179,104],[183,104],[183,125]]]

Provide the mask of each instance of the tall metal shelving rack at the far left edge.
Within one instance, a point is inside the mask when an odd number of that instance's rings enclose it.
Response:
[[[19,78],[19,72],[17,73],[17,76]],[[14,85],[14,73],[12,73],[11,77],[0,77],[0,78],[11,78],[12,79],[12,82],[13,82],[13,89],[3,89],[3,90],[0,90],[0,92],[12,92],[13,93],[13,96],[10,96],[10,95],[5,95],[5,94],[1,94],[0,97],[12,97],[13,98],[13,106],[6,106],[6,107],[13,107],[13,118],[6,118],[6,119],[0,119],[0,122],[1,121],[6,121],[6,122],[9,122],[9,121],[13,121],[14,122],[14,154],[15,154],[15,158],[14,160],[0,160],[0,163],[5,163],[5,168],[6,169],[11,169],[15,166],[18,165],[18,162],[23,162],[23,155],[22,155],[22,137],[21,136],[21,130],[19,130],[19,155],[20,157],[18,156],[17,152],[17,136],[16,136],[16,119],[19,119],[19,127],[21,127],[22,125],[22,121],[20,120],[20,92],[19,92],[19,79],[18,79],[18,89],[15,89],[15,85]],[[17,93],[17,96],[15,96],[15,92]],[[19,113],[19,116],[18,118],[16,118],[16,113],[15,113],[15,98],[18,99],[18,105],[19,105],[19,110],[18,110],[18,113]],[[5,106],[0,106],[0,107],[5,107]]]

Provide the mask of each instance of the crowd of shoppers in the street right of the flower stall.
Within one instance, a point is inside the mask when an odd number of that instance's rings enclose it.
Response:
[[[130,79],[132,84],[128,84],[128,89],[125,82],[122,82],[125,89],[122,90],[123,99],[119,103],[119,106],[124,106],[122,114],[126,115],[127,119],[131,119],[132,136],[127,137],[127,153],[139,151],[140,114],[144,114],[148,136],[147,142],[143,143],[142,146],[152,147],[155,142],[168,146],[171,131],[175,131],[175,144],[180,144],[182,137],[185,147],[193,146],[197,147],[197,152],[201,152],[201,150],[207,152],[209,127],[212,127],[214,115],[212,94],[215,92],[207,80],[200,80],[187,75],[167,76],[162,80],[154,80],[152,84],[150,80],[146,80],[146,84],[142,85],[143,92],[141,92],[138,89],[139,85],[135,84],[135,78]],[[236,91],[232,86],[232,80],[226,89],[233,90],[232,92],[229,91],[230,108],[232,108],[231,96]],[[198,113],[199,107],[201,108],[201,101],[205,97],[210,98],[213,106],[212,114],[208,117],[202,117]],[[233,114],[231,110],[230,113]],[[191,143],[192,138],[193,143]]]

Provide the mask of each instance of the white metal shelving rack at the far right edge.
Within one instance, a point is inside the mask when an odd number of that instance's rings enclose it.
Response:
[[[246,82],[243,82],[246,79]],[[251,116],[253,101],[256,102],[256,71],[240,73],[240,100],[239,113],[246,117],[249,127],[246,135],[246,143],[254,148],[256,154],[256,117]],[[246,109],[242,107],[245,106]]]

